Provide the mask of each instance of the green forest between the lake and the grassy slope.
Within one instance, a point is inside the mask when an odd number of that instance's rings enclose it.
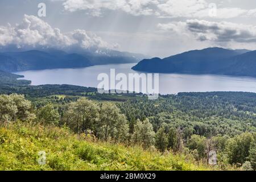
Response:
[[[197,166],[209,167],[214,151],[214,169],[256,169],[255,93],[179,93],[148,100],[71,85],[5,86],[0,93],[2,130],[10,123],[64,127],[97,142],[185,156]],[[0,150],[7,140],[2,130]]]

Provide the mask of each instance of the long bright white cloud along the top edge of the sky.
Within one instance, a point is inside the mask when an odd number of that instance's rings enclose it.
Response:
[[[171,18],[236,18],[256,15],[255,9],[223,8],[205,0],[65,0],[63,6],[67,11],[85,10],[92,16],[101,16],[106,10],[123,11],[136,16],[156,15]],[[211,16],[210,11],[213,8],[216,8],[216,15]]]

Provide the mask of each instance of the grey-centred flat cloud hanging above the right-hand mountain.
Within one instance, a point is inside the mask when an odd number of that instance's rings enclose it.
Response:
[[[159,23],[158,28],[166,32],[192,35],[200,41],[256,43],[256,27],[245,24],[192,19],[186,22]]]

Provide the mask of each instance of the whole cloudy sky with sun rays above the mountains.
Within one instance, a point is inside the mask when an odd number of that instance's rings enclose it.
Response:
[[[1,0],[0,46],[152,57],[207,47],[255,50],[255,19],[255,0]]]

